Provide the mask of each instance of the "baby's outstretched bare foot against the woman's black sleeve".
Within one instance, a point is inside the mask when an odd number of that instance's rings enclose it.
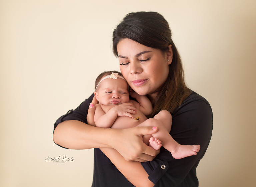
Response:
[[[173,158],[181,159],[187,156],[197,155],[200,150],[200,145],[178,145],[176,149],[171,152]]]

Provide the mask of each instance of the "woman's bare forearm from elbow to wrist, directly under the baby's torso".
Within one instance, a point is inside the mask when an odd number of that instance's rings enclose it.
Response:
[[[58,124],[53,140],[69,149],[111,147],[108,140],[112,131],[113,129],[94,127],[77,120],[67,120]]]

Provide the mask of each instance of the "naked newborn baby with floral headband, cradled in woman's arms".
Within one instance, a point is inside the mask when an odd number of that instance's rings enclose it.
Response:
[[[112,74],[116,76],[111,78]],[[146,96],[130,92],[130,96],[138,102],[129,99],[128,84],[117,73],[102,78],[94,92],[99,104],[95,105],[94,120],[97,127],[125,129],[131,127],[157,127],[158,131],[152,135],[143,135],[143,142],[158,150],[163,146],[176,159],[196,155],[199,145],[180,145],[169,134],[172,124],[172,115],[161,110],[153,118],[147,119],[153,108]],[[117,78],[119,76],[119,78]],[[102,81],[103,80],[103,81]],[[145,114],[145,115],[144,115]],[[139,120],[138,120],[139,118]],[[161,140],[161,141],[160,141]]]

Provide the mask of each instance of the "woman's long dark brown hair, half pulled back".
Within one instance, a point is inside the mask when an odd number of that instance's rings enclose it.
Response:
[[[172,41],[171,29],[165,18],[157,12],[132,12],[113,31],[113,52],[118,56],[117,44],[128,38],[144,46],[160,49],[163,53],[172,45],[173,59],[169,75],[153,107],[153,117],[161,110],[173,112],[191,94],[184,81],[184,71],[178,50]]]

